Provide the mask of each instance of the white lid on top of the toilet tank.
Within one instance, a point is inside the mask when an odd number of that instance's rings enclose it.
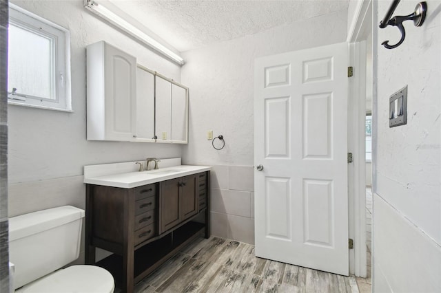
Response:
[[[9,241],[27,237],[44,230],[83,218],[84,210],[74,206],[60,206],[9,218]]]

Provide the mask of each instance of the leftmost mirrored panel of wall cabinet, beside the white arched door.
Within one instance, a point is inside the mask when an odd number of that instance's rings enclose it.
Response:
[[[135,140],[154,142],[154,72],[136,68],[136,131]]]

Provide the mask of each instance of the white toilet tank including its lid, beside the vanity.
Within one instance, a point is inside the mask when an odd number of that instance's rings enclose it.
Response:
[[[9,257],[15,265],[14,289],[79,257],[85,213],[61,206],[9,219]]]

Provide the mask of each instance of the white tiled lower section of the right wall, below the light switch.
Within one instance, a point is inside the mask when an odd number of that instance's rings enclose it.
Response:
[[[373,292],[441,292],[441,246],[373,194]]]

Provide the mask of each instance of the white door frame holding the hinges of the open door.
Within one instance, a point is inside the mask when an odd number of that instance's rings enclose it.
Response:
[[[349,250],[349,272],[366,277],[365,41],[372,32],[372,0],[355,2],[357,6],[347,36],[349,64],[353,67],[348,95],[348,151],[353,153],[353,163],[348,166],[348,196],[349,238],[353,239],[354,249]]]

